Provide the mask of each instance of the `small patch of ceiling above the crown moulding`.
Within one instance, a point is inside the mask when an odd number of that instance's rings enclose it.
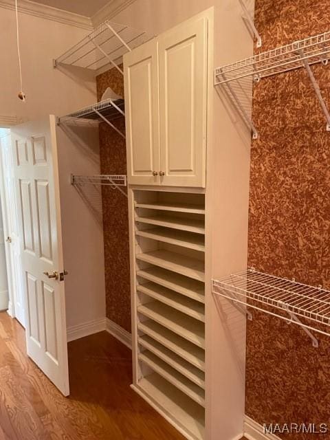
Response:
[[[52,6],[53,8],[63,9],[76,14],[93,17],[107,3],[112,0],[33,0],[36,3]]]

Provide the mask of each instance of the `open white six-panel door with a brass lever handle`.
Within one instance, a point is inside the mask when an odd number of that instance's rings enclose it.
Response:
[[[54,116],[14,126],[12,148],[28,355],[63,395],[69,395],[55,128]]]

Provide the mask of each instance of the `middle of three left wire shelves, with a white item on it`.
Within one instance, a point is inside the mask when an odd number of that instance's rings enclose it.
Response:
[[[125,105],[123,99],[112,100],[111,98],[108,98],[97,102],[96,104],[89,105],[89,107],[84,107],[74,113],[58,118],[58,124],[95,126],[100,122],[107,122],[107,124],[117,131],[117,133],[122,137],[125,137],[124,133],[111,123],[111,121],[125,116],[124,109]]]

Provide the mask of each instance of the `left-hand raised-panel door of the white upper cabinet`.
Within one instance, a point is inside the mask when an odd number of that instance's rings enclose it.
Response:
[[[124,56],[124,87],[129,184],[159,185],[157,41]]]

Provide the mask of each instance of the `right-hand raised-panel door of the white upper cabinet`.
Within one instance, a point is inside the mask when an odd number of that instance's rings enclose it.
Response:
[[[205,187],[208,19],[159,37],[161,184]]]

